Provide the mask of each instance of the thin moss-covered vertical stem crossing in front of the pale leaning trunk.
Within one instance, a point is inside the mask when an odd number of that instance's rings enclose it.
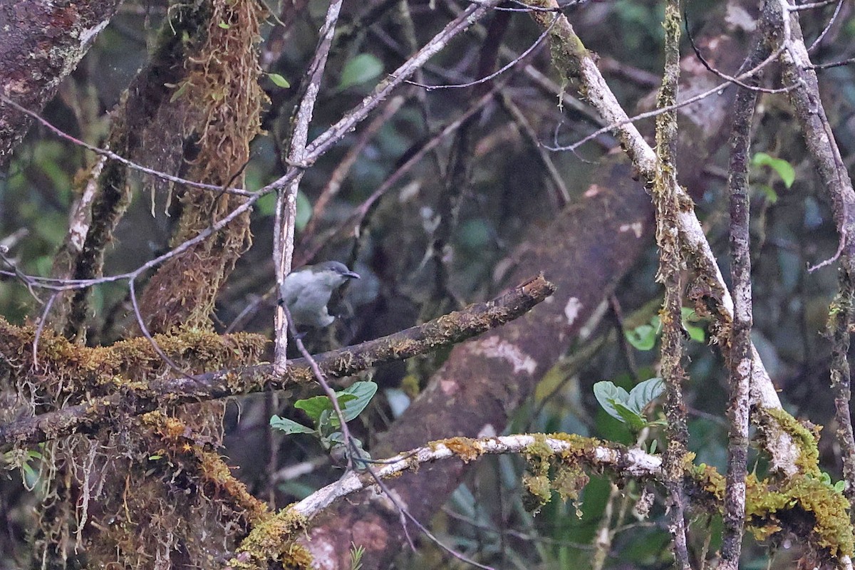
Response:
[[[680,0],[665,3],[665,66],[657,107],[676,103],[680,79]],[[686,405],[682,382],[686,377],[682,360],[682,279],[685,267],[677,232],[680,212],[676,171],[677,115],[675,110],[657,116],[657,168],[653,179],[656,209],[656,242],[659,248],[657,280],[665,285],[662,319],[662,377],[665,381],[665,414],[668,417],[668,449],[663,457],[665,488],[668,490],[669,531],[674,540],[677,567],[689,568],[684,517],[683,461],[688,443]]]

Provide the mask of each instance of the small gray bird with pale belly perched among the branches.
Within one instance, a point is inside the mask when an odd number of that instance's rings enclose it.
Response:
[[[285,278],[280,303],[285,303],[295,326],[330,326],[335,317],[327,311],[329,297],[348,279],[359,279],[359,273],[339,261],[300,267]]]

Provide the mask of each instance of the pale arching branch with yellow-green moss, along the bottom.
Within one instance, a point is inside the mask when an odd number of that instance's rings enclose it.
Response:
[[[802,428],[804,429],[804,428]],[[796,428],[798,432],[798,428]],[[806,444],[814,446],[810,433],[802,433]],[[797,434],[797,437],[801,437]],[[606,471],[616,477],[664,481],[663,460],[639,448],[584,438],[575,434],[516,434],[496,438],[446,438],[433,441],[414,450],[378,461],[373,467],[379,479],[398,479],[404,473],[431,473],[430,464],[457,460],[469,463],[484,455],[522,454],[533,472],[549,471],[544,475],[543,495],[548,501],[551,491],[564,500],[575,500],[587,484],[583,468]],[[539,477],[540,478],[540,477]],[[711,513],[722,511],[724,478],[715,468],[685,463],[681,470],[687,491],[697,506]],[[778,532],[792,532],[811,526],[808,537],[813,544],[833,556],[840,568],[852,568],[852,527],[846,515],[846,500],[820,478],[799,475],[781,486],[774,479],[748,479],[747,511],[752,533],[769,538]],[[311,555],[298,542],[307,526],[333,503],[359,491],[377,492],[374,477],[369,473],[350,472],[338,481],[312,493],[302,501],[265,516],[239,546],[229,562],[232,568],[251,570],[267,567],[268,560],[294,561],[309,566]]]

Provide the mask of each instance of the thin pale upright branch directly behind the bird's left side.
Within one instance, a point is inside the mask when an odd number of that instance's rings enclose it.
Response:
[[[339,12],[343,0],[332,0],[327,9],[327,18],[321,28],[321,38],[318,41],[318,49],[315,50],[315,59],[312,60],[309,73],[309,83],[300,106],[294,132],[291,137],[291,146],[288,149],[286,162],[290,165],[298,165],[303,162],[306,154],[306,144],[309,138],[309,124],[312,113],[315,110],[315,101],[318,92],[321,91],[321,78],[327,65],[327,56],[330,46],[333,44],[335,24],[339,20]],[[294,221],[297,219],[297,191],[303,174],[299,173],[285,188],[280,189],[276,196],[276,220],[274,226],[274,248],[273,261],[276,271],[276,291],[281,291],[286,275],[291,273],[291,261],[294,256]],[[275,318],[275,356],[274,368],[284,371],[286,366],[286,349],[288,345],[288,322],[285,311],[281,307],[276,309]]]

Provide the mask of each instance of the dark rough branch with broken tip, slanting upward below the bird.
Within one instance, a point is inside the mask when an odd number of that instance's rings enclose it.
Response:
[[[325,352],[314,358],[327,377],[342,378],[382,362],[403,360],[461,343],[522,316],[553,291],[555,286],[539,276],[492,301],[475,303],[467,309],[445,314],[422,325]],[[29,342],[32,342],[32,338]],[[17,349],[9,344],[9,354],[3,356],[11,360]],[[21,366],[27,365],[21,363]],[[16,446],[36,444],[73,433],[96,432],[114,422],[121,414],[138,415],[163,405],[174,406],[257,391],[281,390],[287,385],[307,383],[312,379],[314,375],[310,365],[303,359],[296,359],[288,361],[285,374],[276,374],[273,365],[262,364],[128,386],[121,393],[93,398],[80,405],[0,426],[0,453]]]

